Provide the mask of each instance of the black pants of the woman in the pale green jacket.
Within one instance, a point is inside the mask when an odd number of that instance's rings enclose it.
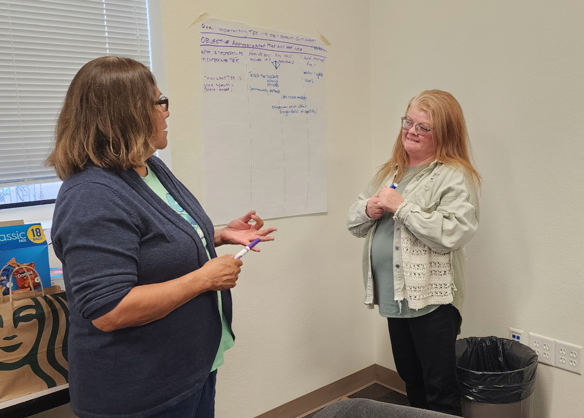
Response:
[[[456,376],[460,313],[452,305],[416,318],[388,318],[395,367],[411,406],[462,416]]]

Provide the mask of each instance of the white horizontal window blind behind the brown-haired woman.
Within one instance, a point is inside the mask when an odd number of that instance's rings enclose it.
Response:
[[[0,185],[56,178],[44,160],[69,83],[106,55],[150,68],[146,0],[0,0]]]

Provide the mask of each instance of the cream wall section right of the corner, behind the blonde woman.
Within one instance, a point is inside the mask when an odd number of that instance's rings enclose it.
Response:
[[[408,100],[451,92],[483,176],[463,337],[509,327],[584,346],[584,3],[371,0],[373,165]],[[392,367],[376,320],[376,361]],[[539,365],[536,418],[581,417],[584,377]]]

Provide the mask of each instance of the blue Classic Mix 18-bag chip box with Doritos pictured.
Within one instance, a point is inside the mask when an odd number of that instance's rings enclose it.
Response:
[[[4,267],[2,267],[4,266]],[[0,293],[51,286],[48,270],[48,245],[40,224],[0,227]]]

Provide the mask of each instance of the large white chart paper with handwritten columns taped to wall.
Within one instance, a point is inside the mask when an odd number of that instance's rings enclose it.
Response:
[[[252,208],[267,218],[325,212],[324,44],[215,18],[199,28],[211,219]]]

